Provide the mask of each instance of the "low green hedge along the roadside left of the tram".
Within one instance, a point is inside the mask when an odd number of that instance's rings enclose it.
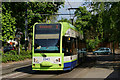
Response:
[[[9,61],[21,61],[24,59],[30,59],[32,57],[31,51],[21,50],[20,55],[17,51],[11,50],[6,53],[2,53],[2,62],[6,63]]]

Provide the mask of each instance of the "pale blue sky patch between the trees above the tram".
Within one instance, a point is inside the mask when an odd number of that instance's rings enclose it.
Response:
[[[65,5],[64,7],[61,7],[58,11],[58,14],[74,14],[75,10],[67,10],[68,8],[78,8],[79,6],[82,6],[83,1],[81,0],[65,0]],[[70,19],[73,18],[73,15],[59,15],[57,20],[60,20],[62,18],[67,18]]]

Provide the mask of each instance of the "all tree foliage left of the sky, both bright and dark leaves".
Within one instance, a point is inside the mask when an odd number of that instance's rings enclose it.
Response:
[[[54,4],[52,2],[3,2],[3,40],[13,39],[15,28],[21,29],[21,32],[23,32],[21,39],[24,39],[26,12],[28,34],[31,36],[34,23],[46,22],[46,18],[50,20],[53,17],[52,15],[40,14],[54,14],[61,5],[63,6],[63,2],[55,2]],[[21,43],[24,44],[24,40]]]

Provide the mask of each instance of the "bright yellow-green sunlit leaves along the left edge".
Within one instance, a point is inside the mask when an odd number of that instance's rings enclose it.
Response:
[[[2,41],[7,41],[15,37],[16,19],[11,16],[11,11],[8,11],[4,5],[2,5],[2,7],[5,10],[5,12],[2,13]]]

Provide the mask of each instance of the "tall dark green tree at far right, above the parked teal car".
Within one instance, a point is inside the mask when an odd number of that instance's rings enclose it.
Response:
[[[87,42],[94,45],[98,42],[117,42],[120,41],[119,14],[120,2],[91,2],[86,3],[90,7],[92,17],[89,21]],[[91,26],[91,27],[90,27]],[[93,40],[90,40],[93,39]],[[114,45],[114,44],[113,44]]]

